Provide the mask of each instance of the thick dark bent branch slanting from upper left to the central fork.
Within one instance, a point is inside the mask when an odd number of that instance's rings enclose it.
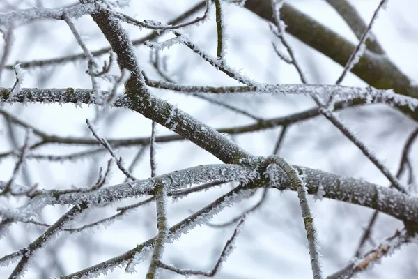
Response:
[[[92,17],[109,41],[112,50],[118,55],[119,68],[127,69],[131,73],[129,80],[125,83],[125,94],[130,100],[131,110],[186,137],[224,163],[238,163],[243,158],[251,157],[249,153],[227,140],[217,130],[197,121],[164,100],[150,95],[135,58],[132,43],[121,24],[106,10],[95,13]]]

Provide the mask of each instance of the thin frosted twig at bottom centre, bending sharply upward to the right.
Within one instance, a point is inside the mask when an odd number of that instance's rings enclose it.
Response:
[[[159,266],[163,269],[167,269],[169,271],[176,272],[178,274],[181,274],[183,276],[205,276],[205,277],[214,277],[217,275],[218,271],[221,269],[222,264],[226,261],[226,259],[231,255],[231,252],[234,248],[234,242],[237,238],[238,234],[240,233],[242,226],[244,225],[245,218],[247,218],[247,214],[243,214],[238,219],[237,227],[235,227],[233,234],[231,238],[226,241],[224,249],[222,249],[221,255],[219,255],[219,258],[217,259],[217,262],[215,263],[215,266],[213,266],[213,269],[211,271],[205,272],[205,271],[194,271],[194,270],[187,270],[187,269],[178,269],[174,266],[170,266],[168,264],[164,264],[162,262],[159,263]]]

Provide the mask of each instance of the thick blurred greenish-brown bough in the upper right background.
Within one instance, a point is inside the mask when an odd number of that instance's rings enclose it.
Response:
[[[270,0],[247,0],[245,8],[269,22],[274,22]],[[355,50],[355,45],[316,22],[308,15],[288,4],[281,8],[281,20],[286,22],[286,31],[318,52],[344,66]],[[351,70],[357,77],[378,89],[394,89],[401,95],[418,98],[418,86],[413,86],[409,77],[399,70],[386,56],[364,52],[359,63]],[[408,111],[398,107],[418,121],[418,110]]]

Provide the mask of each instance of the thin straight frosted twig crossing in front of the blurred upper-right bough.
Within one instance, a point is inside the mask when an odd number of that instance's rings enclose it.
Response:
[[[375,12],[373,13],[373,17],[371,17],[369,25],[367,26],[366,30],[364,30],[362,38],[360,38],[360,41],[355,47],[354,52],[348,58],[348,61],[346,63],[346,66],[344,67],[343,73],[341,73],[339,78],[336,80],[335,82],[336,85],[341,84],[344,77],[346,77],[347,73],[355,66],[356,63],[358,63],[360,58],[362,58],[364,50],[366,49],[366,40],[367,38],[369,38],[369,35],[371,32],[371,27],[373,26],[373,23],[378,18],[379,11],[386,6],[386,3],[387,3],[387,0],[380,1],[378,8],[376,8]]]

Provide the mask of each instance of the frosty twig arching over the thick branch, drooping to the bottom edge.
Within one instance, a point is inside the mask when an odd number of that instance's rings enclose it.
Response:
[[[281,158],[277,155],[265,158],[265,164],[268,165],[267,168],[272,167],[272,165],[278,165],[281,169],[283,169],[284,172],[288,175],[288,178],[291,181],[293,187],[297,190],[297,197],[299,198],[300,209],[302,209],[304,227],[307,231],[312,273],[315,279],[323,278],[318,251],[318,236],[316,236],[314,218],[312,217],[311,209],[309,208],[309,203],[307,199],[307,187],[304,180],[302,179],[301,174],[298,173],[295,167],[287,163],[286,160],[284,160],[284,158]],[[270,181],[274,181],[274,177],[270,177]]]

